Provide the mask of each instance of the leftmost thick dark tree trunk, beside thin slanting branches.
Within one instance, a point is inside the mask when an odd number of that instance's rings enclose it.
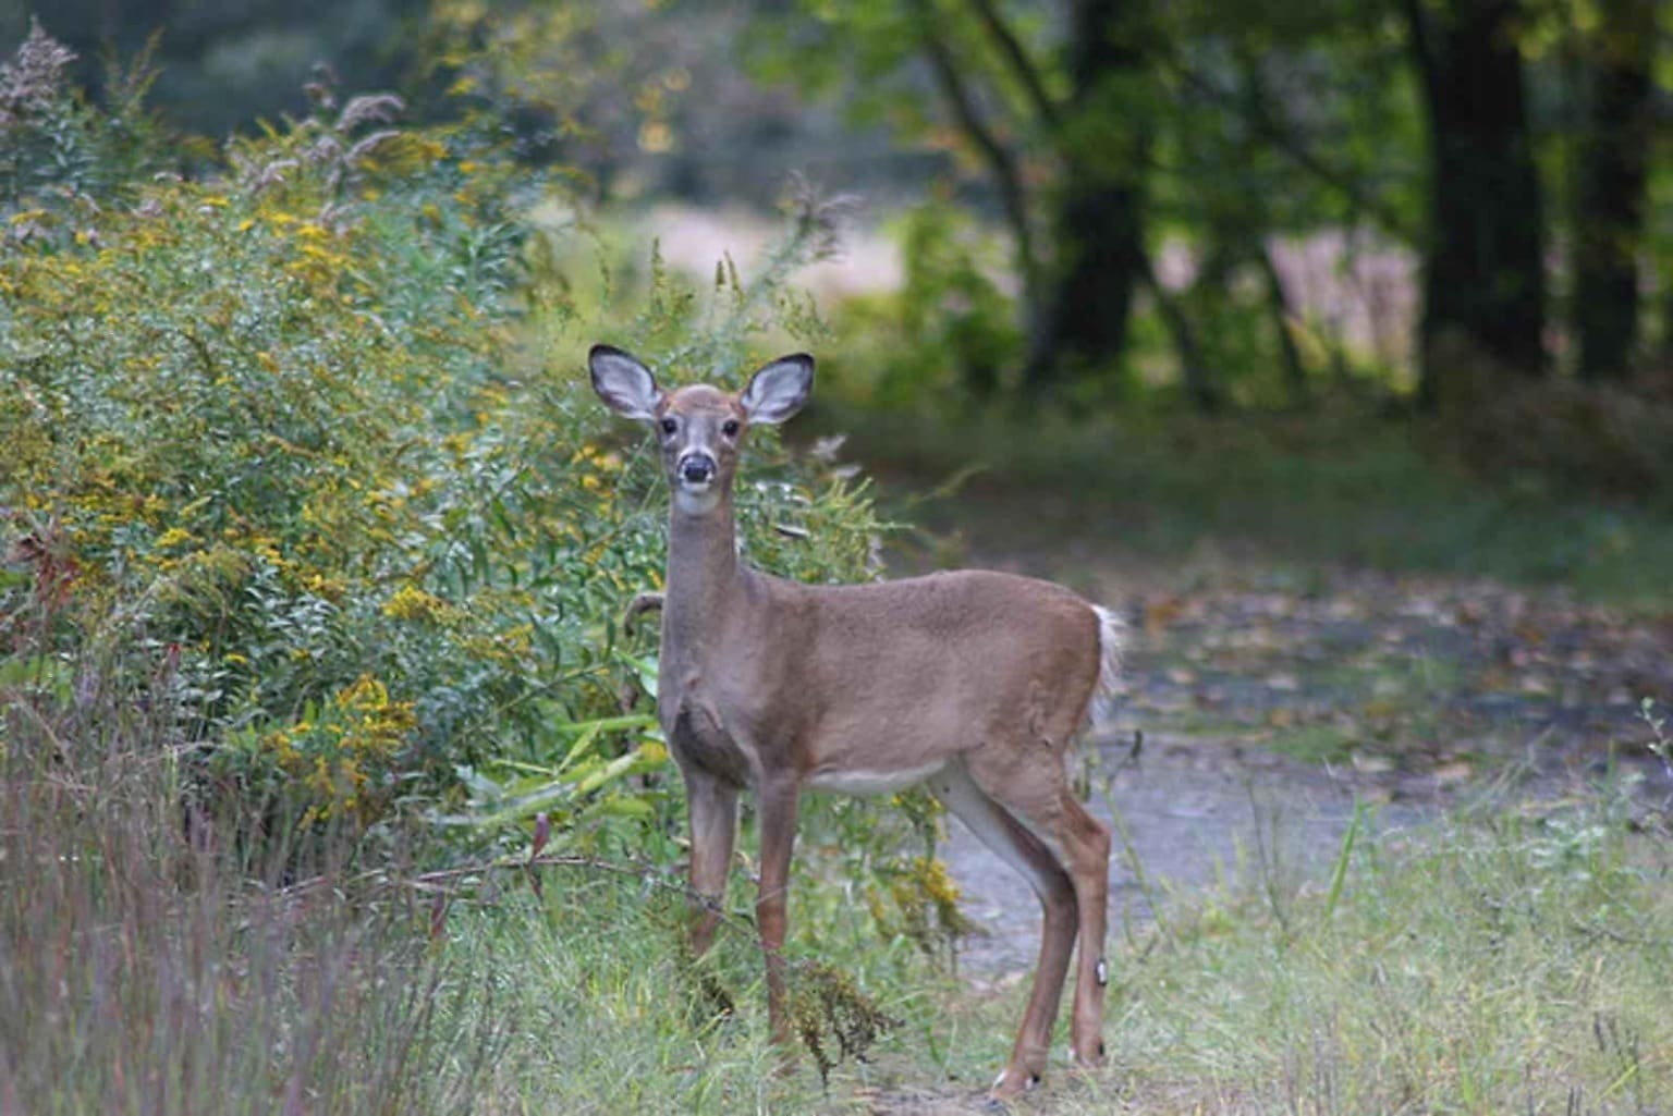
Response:
[[[1074,94],[1059,131],[1054,273],[1026,373],[1034,395],[1113,365],[1128,345],[1133,294],[1144,274],[1146,137],[1141,127],[1111,131],[1134,117],[1119,99],[1143,65],[1136,17],[1134,0],[1074,3],[1067,47]]]

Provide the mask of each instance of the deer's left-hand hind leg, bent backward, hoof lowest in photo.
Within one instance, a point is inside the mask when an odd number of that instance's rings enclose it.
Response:
[[[1046,1071],[1051,1027],[1062,997],[1062,982],[1069,974],[1069,954],[1074,949],[1074,885],[1046,842],[977,785],[962,761],[947,765],[929,786],[984,845],[1027,878],[1041,900],[1044,919],[1034,987],[1010,1059],[992,1088],[995,1098],[1016,1096],[1037,1084]]]

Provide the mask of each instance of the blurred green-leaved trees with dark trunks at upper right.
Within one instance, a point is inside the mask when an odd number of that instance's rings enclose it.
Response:
[[[1143,289],[1198,407],[1258,368],[1305,402],[1340,343],[1325,361],[1300,343],[1320,323],[1271,249],[1345,233],[1420,256],[1412,348],[1434,402],[1461,365],[1574,363],[1571,338],[1588,376],[1653,378],[1645,335],[1668,323],[1641,311],[1673,248],[1646,223],[1670,191],[1663,17],[1645,0],[801,0],[760,17],[753,64],[984,186],[1021,281],[1027,393],[1119,371]],[[1169,283],[1158,256],[1181,243],[1193,266]]]

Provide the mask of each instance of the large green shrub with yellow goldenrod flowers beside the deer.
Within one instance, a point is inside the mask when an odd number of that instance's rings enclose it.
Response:
[[[601,721],[654,676],[616,629],[661,576],[659,477],[581,353],[609,333],[736,376],[768,325],[811,328],[785,278],[818,229],[708,301],[657,271],[609,330],[530,266],[545,181],[487,122],[398,112],[316,92],[211,177],[147,176],[0,246],[7,668],[52,674],[35,694],[65,714],[75,688],[166,678],[171,743],[258,830],[514,822],[539,793],[577,842],[664,833],[651,718]],[[867,576],[863,492],[771,445],[756,462],[756,561]]]

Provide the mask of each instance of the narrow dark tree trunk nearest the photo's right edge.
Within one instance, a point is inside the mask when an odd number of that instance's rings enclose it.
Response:
[[[1638,246],[1655,142],[1655,0],[1603,0],[1574,212],[1579,375],[1626,380],[1638,348]]]

